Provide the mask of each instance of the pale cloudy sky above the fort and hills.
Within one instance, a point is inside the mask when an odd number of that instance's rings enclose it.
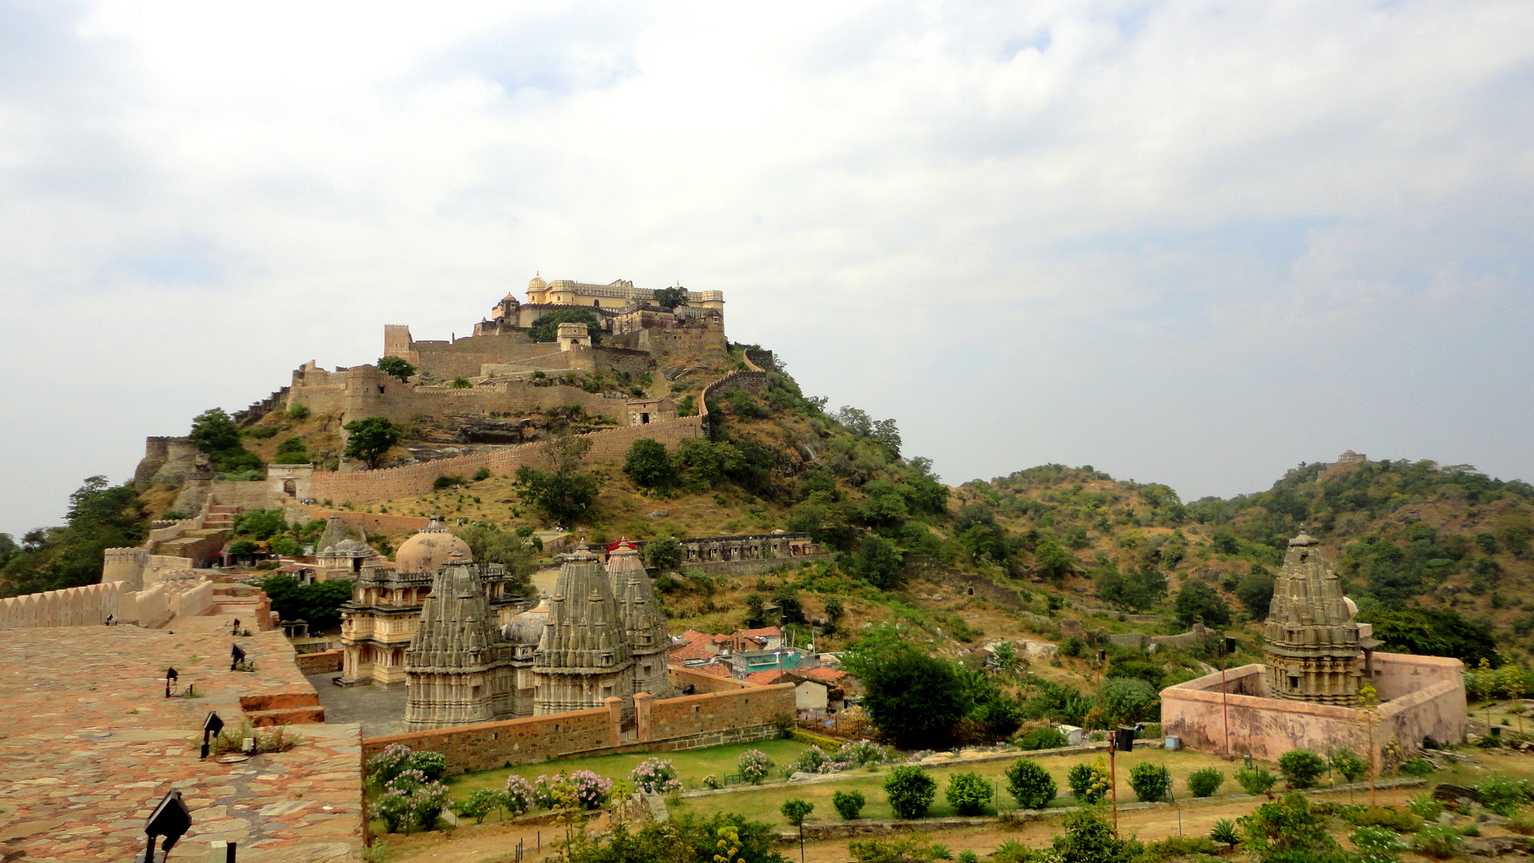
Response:
[[[1534,3],[0,0],[0,532],[545,279],[945,481],[1534,480]]]

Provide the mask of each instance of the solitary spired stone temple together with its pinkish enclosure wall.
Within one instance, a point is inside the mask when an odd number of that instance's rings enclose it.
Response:
[[[1315,538],[1289,541],[1264,624],[1264,664],[1161,690],[1161,727],[1190,750],[1276,759],[1296,750],[1411,751],[1465,739],[1465,665],[1379,653],[1373,627]],[[1379,705],[1361,702],[1370,684]]]

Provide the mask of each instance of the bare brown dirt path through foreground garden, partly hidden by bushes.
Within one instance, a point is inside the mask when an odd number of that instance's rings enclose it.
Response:
[[[1420,794],[1420,788],[1396,788],[1379,791],[1378,802],[1384,806],[1404,806],[1413,794]],[[1316,794],[1319,800],[1348,800],[1347,791],[1332,791]],[[1368,792],[1356,792],[1353,799],[1359,803],[1368,802]],[[1181,806],[1155,806],[1120,812],[1118,829],[1141,840],[1150,842],[1178,835],[1207,835],[1220,819],[1235,820],[1250,812],[1259,802],[1258,797],[1215,797],[1212,800],[1183,802]],[[1181,814],[1181,825],[1178,825]],[[598,819],[591,823],[588,832],[606,829],[606,820]],[[951,831],[931,831],[928,838],[940,842],[956,854],[963,849],[985,855],[996,851],[999,845],[1012,838],[1034,848],[1049,845],[1049,840],[1060,832],[1058,819],[1029,822],[1017,828],[983,826]],[[520,823],[486,823],[466,825],[451,832],[430,832],[407,837],[388,837],[388,863],[514,863],[517,842],[523,843],[523,863],[538,863],[545,858],[557,858],[554,852],[555,840],[565,837],[563,828],[554,823],[520,825]],[[538,851],[542,842],[543,851]],[[784,857],[799,858],[796,846],[784,846]],[[847,863],[847,840],[807,842],[804,845],[805,863]]]

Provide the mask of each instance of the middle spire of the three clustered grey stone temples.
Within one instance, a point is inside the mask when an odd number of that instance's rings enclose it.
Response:
[[[584,543],[565,558],[532,659],[532,713],[565,713],[623,699],[634,707],[634,655],[607,570]]]

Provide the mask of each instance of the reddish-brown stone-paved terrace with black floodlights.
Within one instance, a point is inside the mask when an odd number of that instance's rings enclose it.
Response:
[[[359,727],[313,724],[324,714],[287,639],[230,638],[227,621],[244,610],[163,630],[0,633],[0,858],[133,860],[144,819],[178,788],[192,829],[172,858],[202,860],[210,842],[227,840],[241,863],[359,860]],[[232,641],[256,673],[229,670]],[[167,665],[204,697],[163,697]],[[302,742],[241,763],[198,760],[207,711],[238,728],[242,701],[259,724],[310,722],[288,728]]]

